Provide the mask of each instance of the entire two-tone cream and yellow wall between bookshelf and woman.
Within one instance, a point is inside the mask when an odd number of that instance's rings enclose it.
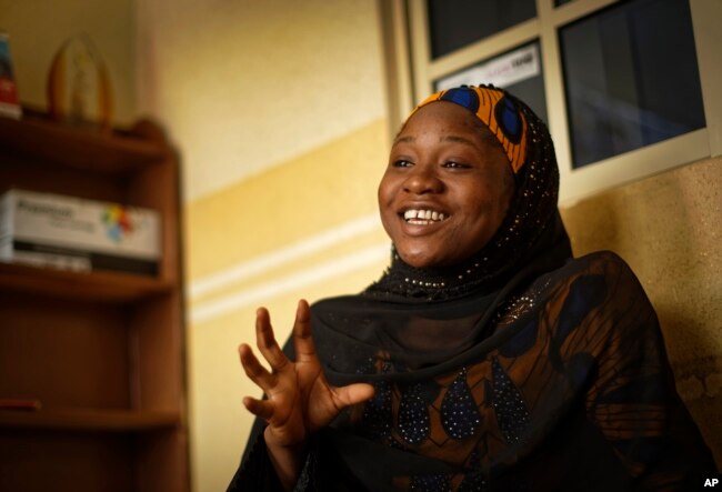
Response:
[[[374,0],[138,2],[140,112],[183,159],[193,488],[224,490],[259,396],[237,347],[267,305],[355,292],[387,263]]]

